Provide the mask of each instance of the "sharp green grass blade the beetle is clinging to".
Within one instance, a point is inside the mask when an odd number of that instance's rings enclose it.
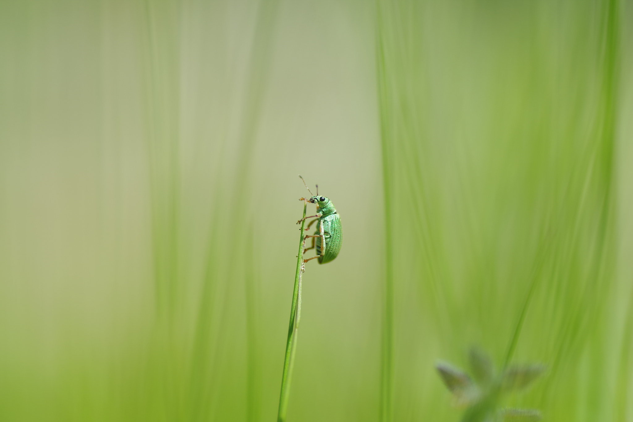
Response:
[[[288,326],[288,339],[285,342],[284,374],[281,378],[281,392],[279,395],[279,413],[277,422],[285,422],[288,411],[288,397],[290,395],[290,381],[294,366],[294,353],[296,352],[297,333],[299,319],[301,318],[301,264],[303,264],[303,232],[306,225],[306,209],[308,202],[303,202],[303,217],[301,219],[301,236],[299,236],[299,252],[297,254],[297,271],[294,275],[294,290],[292,290],[292,305],[290,307],[290,324]]]

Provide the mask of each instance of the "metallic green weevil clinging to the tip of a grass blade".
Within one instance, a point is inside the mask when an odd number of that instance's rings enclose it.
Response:
[[[301,176],[299,176],[301,177]],[[303,180],[303,177],[301,177]],[[309,198],[301,198],[303,201],[310,201],[313,204],[316,204],[316,212],[317,214],[311,215],[309,217],[303,218],[297,221],[297,224],[300,224],[301,221],[306,220],[312,217],[318,217],[315,220],[310,221],[308,227],[306,227],[306,231],[310,230],[310,226],[315,221],[318,221],[316,226],[316,231],[314,235],[306,235],[303,238],[303,247],[306,247],[306,239],[312,238],[312,246],[304,249],[303,253],[309,251],[310,249],[314,249],[316,247],[316,256],[312,258],[304,259],[303,264],[310,261],[310,259],[318,259],[319,264],[325,264],[332,261],[332,259],[336,258],[341,251],[341,242],[342,242],[342,230],[341,230],[341,216],[336,212],[334,208],[334,204],[330,201],[329,198],[325,196],[320,196],[318,194],[318,185],[316,185],[316,195],[312,194],[312,191],[306,185],[306,181],[303,180],[303,184],[310,192],[311,197]]]

